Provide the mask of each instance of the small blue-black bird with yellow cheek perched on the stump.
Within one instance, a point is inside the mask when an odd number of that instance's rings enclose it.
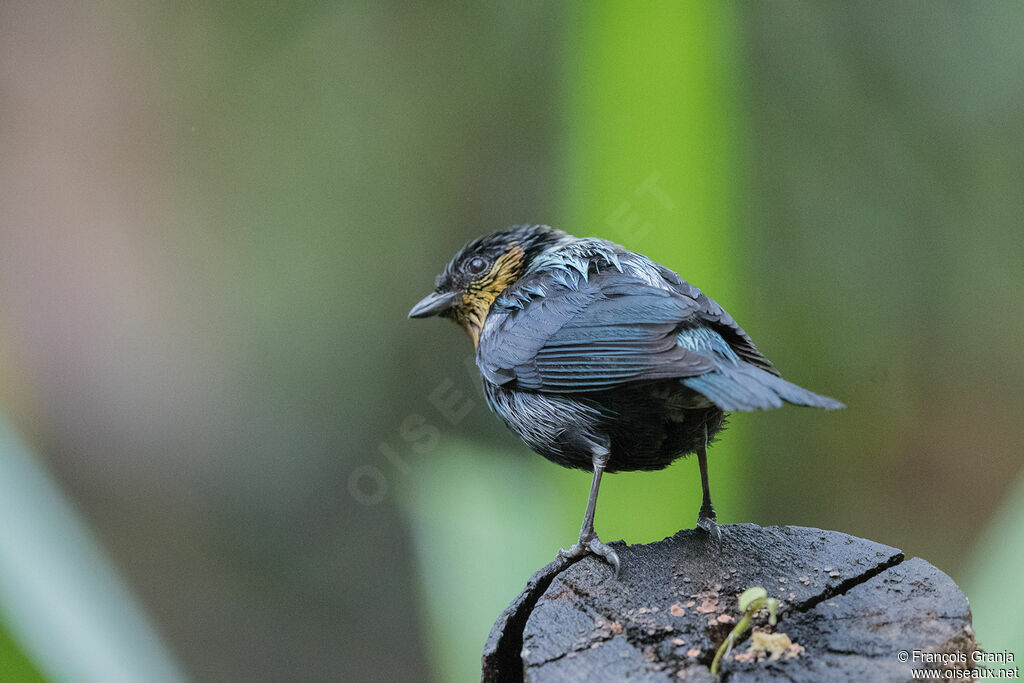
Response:
[[[782,379],[718,303],[672,269],[598,238],[513,225],[466,244],[410,317],[455,322],[472,340],[487,407],[531,450],[592,473],[563,558],[621,561],[594,528],[604,473],[696,455],[697,528],[720,541],[708,445],[735,411],[843,403]]]

